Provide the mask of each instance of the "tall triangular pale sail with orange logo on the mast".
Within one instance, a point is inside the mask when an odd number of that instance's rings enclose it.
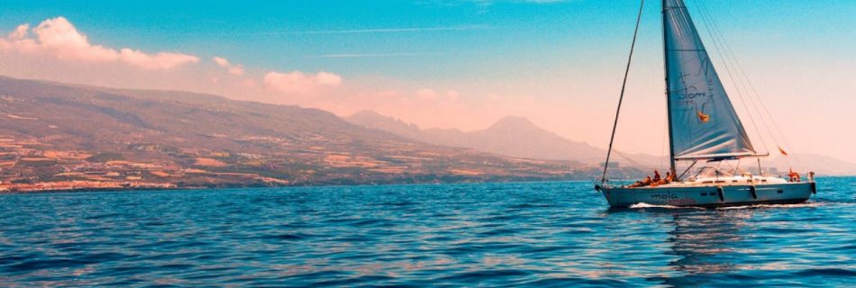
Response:
[[[755,154],[683,0],[663,1],[673,157]]]

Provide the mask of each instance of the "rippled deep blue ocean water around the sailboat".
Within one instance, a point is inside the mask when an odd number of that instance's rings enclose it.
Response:
[[[856,178],[609,209],[588,183],[0,194],[0,286],[856,286]]]

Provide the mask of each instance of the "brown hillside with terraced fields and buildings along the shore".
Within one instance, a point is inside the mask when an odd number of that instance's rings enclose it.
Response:
[[[330,112],[0,77],[0,181],[178,186],[587,179],[567,161],[448,148]]]

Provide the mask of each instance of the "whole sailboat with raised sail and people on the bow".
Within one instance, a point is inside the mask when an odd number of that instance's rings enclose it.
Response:
[[[642,7],[636,21],[633,45],[641,19]],[[621,111],[619,100],[604,176],[595,189],[604,194],[612,207],[638,203],[718,207],[806,202],[816,193],[813,173],[805,180],[793,174],[788,179],[772,176],[761,171],[760,159],[757,174],[737,168],[724,171],[719,168],[721,165],[715,165],[737,161],[739,166],[741,159],[767,157],[769,153],[758,153],[752,146],[684,1],[662,0],[662,21],[671,176],[660,184],[623,185],[607,181],[606,169]],[[633,45],[624,85],[633,58]],[[623,98],[624,86],[620,99]],[[678,173],[678,161],[692,164]],[[690,173],[698,162],[708,166]]]

